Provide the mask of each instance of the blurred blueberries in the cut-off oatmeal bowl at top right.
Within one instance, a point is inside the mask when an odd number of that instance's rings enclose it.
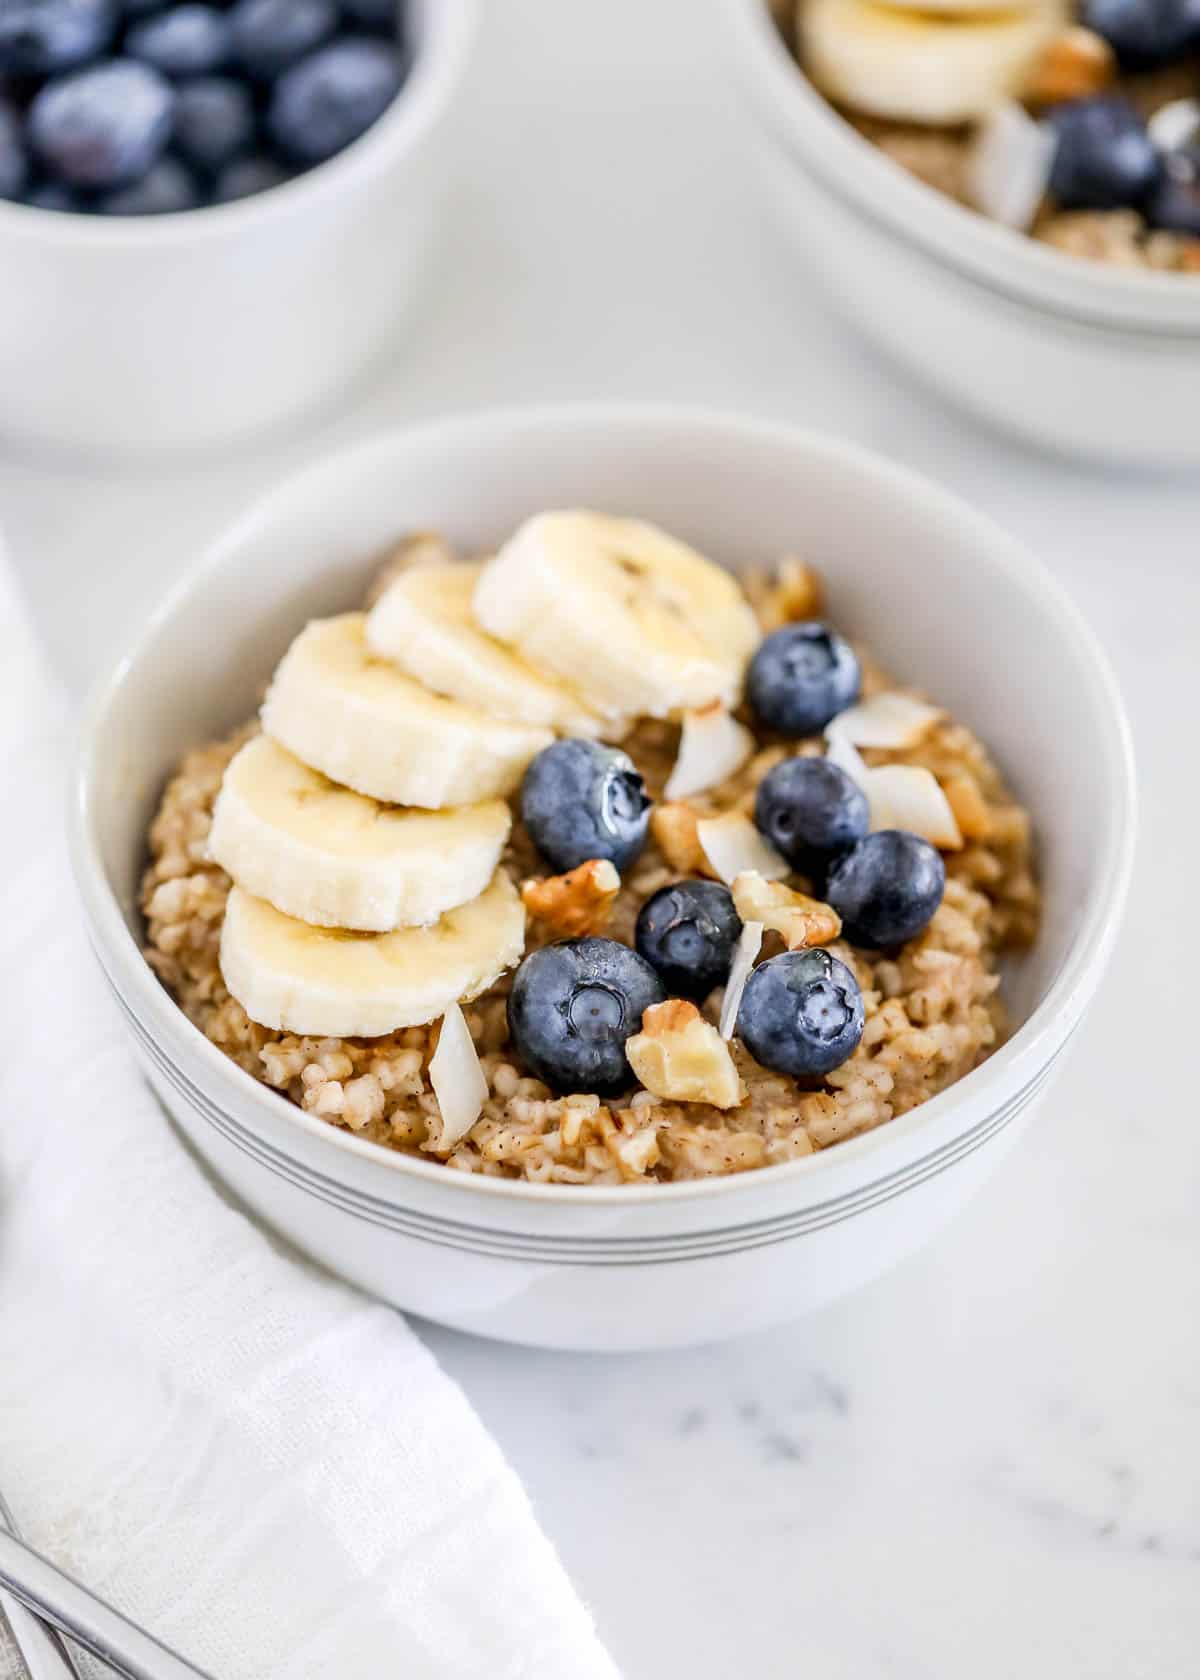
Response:
[[[1123,71],[1200,55],[1200,0],[1084,0],[1081,20],[1108,40]],[[1050,193],[1061,208],[1139,210],[1150,227],[1200,239],[1200,121],[1170,150],[1116,94],[1055,106],[1047,121],[1057,138]]]

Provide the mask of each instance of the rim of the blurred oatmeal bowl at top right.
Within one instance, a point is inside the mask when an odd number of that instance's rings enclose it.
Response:
[[[886,156],[813,87],[766,0],[723,0],[751,92],[776,131],[824,183],[891,234],[1007,297],[1084,326],[1200,334],[1200,281],[1155,269],[1086,262],[956,203]],[[818,153],[825,156],[818,158]]]

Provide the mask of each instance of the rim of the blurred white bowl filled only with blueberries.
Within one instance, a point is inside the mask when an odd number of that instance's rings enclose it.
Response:
[[[412,66],[388,109],[345,151],[314,165],[291,181],[227,205],[173,210],[150,217],[99,217],[71,210],[0,202],[0,239],[27,239],[57,245],[190,244],[197,239],[235,235],[250,223],[303,215],[309,205],[345,190],[355,178],[370,180],[424,139],[442,116],[462,79],[479,24],[479,0],[415,0],[418,30]]]

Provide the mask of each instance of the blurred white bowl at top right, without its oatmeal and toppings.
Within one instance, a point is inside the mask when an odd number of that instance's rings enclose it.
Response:
[[[822,99],[765,0],[718,10],[768,213],[879,348],[1040,447],[1200,464],[1200,281],[1082,262],[965,210]]]

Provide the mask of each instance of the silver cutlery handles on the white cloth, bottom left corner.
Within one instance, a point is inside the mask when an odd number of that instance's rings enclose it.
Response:
[[[62,1643],[39,1625],[39,1618],[69,1635],[124,1680],[212,1680],[18,1539],[3,1500],[0,1519],[0,1589],[7,1588],[17,1601],[8,1625],[32,1680],[79,1680],[79,1670]],[[37,1668],[35,1662],[42,1667]],[[47,1667],[50,1662],[59,1667]]]

